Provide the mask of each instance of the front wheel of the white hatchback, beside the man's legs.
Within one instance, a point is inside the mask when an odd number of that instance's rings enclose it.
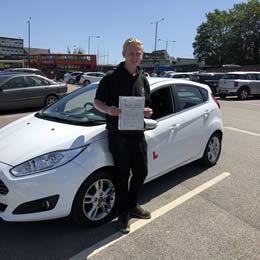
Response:
[[[72,219],[80,225],[97,226],[114,216],[115,180],[111,171],[100,170],[78,190],[72,207]]]

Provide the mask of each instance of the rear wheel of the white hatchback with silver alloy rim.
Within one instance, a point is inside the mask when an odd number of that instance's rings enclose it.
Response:
[[[213,134],[206,145],[201,163],[207,167],[215,165],[221,153],[222,136],[219,133]]]

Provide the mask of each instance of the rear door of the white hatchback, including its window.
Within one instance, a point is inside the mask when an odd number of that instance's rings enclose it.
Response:
[[[211,105],[207,90],[191,84],[173,87],[177,109],[182,115],[180,134],[182,160],[189,161],[200,154],[209,134]]]

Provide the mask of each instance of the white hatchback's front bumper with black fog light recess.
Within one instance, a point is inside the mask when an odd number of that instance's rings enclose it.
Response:
[[[25,177],[14,177],[10,169],[9,165],[0,163],[0,218],[5,221],[38,221],[68,216],[86,174],[73,161]]]

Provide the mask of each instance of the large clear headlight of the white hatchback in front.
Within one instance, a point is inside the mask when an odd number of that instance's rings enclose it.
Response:
[[[86,147],[87,146],[43,154],[15,166],[10,170],[10,172],[15,177],[22,177],[29,174],[51,170],[70,162],[86,149]]]

